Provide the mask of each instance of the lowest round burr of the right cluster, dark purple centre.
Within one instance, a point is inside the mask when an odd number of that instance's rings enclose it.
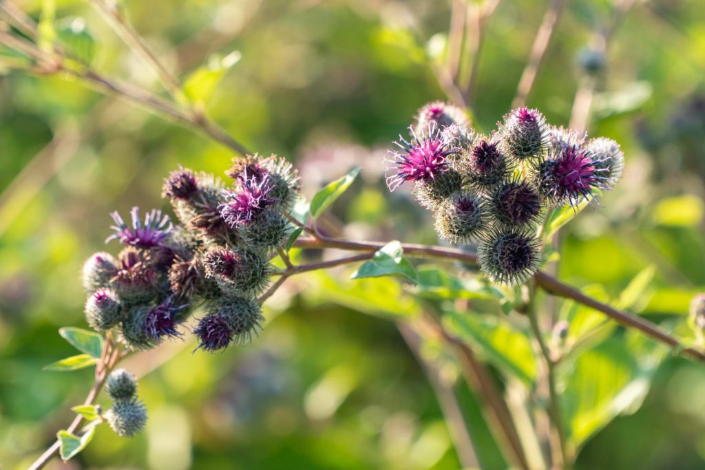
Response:
[[[477,248],[482,271],[491,280],[507,285],[523,283],[541,262],[541,245],[529,230],[496,230]]]

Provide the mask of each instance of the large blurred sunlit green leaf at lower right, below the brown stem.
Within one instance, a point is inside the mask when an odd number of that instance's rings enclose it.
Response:
[[[560,364],[569,440],[579,448],[615,416],[635,412],[668,350],[628,331]]]

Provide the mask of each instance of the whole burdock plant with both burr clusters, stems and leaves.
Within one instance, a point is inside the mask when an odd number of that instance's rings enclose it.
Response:
[[[205,100],[193,99],[180,89],[180,80],[159,62],[159,54],[149,51],[135,28],[126,23],[128,16],[123,14],[121,2],[96,0],[92,4],[107,13],[120,37],[139,49],[137,55],[157,70],[168,96],[97,73],[85,54],[80,54],[90,48],[72,49],[75,41],[62,39],[68,37],[66,31],[51,31],[53,11],[42,13],[39,26],[17,7],[8,6],[10,3],[0,2],[0,16],[8,23],[3,23],[0,32],[0,43],[8,49],[4,70],[22,64],[20,58],[26,58],[27,70],[32,73],[61,72],[61,76],[127,97],[197,128],[235,154],[223,179],[183,166],[168,173],[161,194],[171,204],[170,209],[140,214],[133,207],[129,218],[119,212],[110,214],[113,223],[104,230],[109,249],[90,256],[80,273],[87,296],[85,323],[93,331],[62,328],[61,335],[83,354],[48,367],[66,371],[95,366],[94,383],[85,403],[73,407],[77,413],[73,423],[59,431],[56,443],[32,469],[42,468],[57,452],[63,459],[70,459],[90,442],[101,423],[125,438],[139,435],[147,426],[147,405],[137,396],[137,376],[116,369],[123,359],[133,357],[135,364],[142,364],[141,359],[165,343],[190,345],[194,354],[230,352],[235,345],[245,346],[266,327],[263,305],[285,281],[325,268],[362,263],[353,278],[396,276],[400,285],[386,285],[381,292],[404,292],[422,299],[415,303],[418,309],[405,311],[405,304],[393,298],[365,302],[369,293],[360,288],[346,302],[354,304],[360,299],[367,311],[381,310],[393,317],[426,369],[439,378],[436,385],[441,390],[441,408],[452,410],[453,434],[482,439],[483,445],[474,449],[477,452],[466,454],[474,458],[475,454],[486,457],[485,452],[500,447],[505,451],[498,458],[493,454],[491,459],[478,459],[481,466],[494,462],[487,466],[570,469],[581,444],[579,438],[584,441],[606,419],[632,408],[643,397],[648,373],[643,373],[642,363],[652,366],[658,362],[659,353],[653,345],[642,348],[646,361],[640,357],[625,361],[627,351],[632,351],[628,348],[637,342],[634,338],[628,338],[628,345],[627,341],[620,342],[616,348],[620,366],[615,368],[602,367],[611,364],[613,347],[603,348],[587,359],[580,356],[590,347],[582,343],[602,340],[611,331],[606,323],[594,321],[596,311],[679,354],[705,361],[701,350],[703,297],[692,304],[690,323],[699,335],[699,345],[691,347],[646,318],[617,309],[627,308],[631,297],[639,297],[632,286],[643,284],[643,276],[630,284],[629,295],[607,304],[565,285],[542,268],[559,255],[554,237],[560,226],[587,205],[599,210],[596,199],[617,186],[625,168],[625,156],[617,142],[606,137],[590,138],[583,132],[588,128],[589,106],[584,110],[576,107],[572,122],[580,129],[571,130],[549,125],[541,111],[522,105],[541,63],[543,51],[539,46],[547,44],[546,27],[541,27],[541,40],[532,48],[532,66],[525,70],[527,80],[522,77],[517,90],[517,107],[506,113],[494,130],[479,128],[474,116],[471,120],[466,112],[470,109],[465,109],[468,98],[472,98],[473,107],[477,105],[472,90],[475,66],[465,70],[470,64],[456,63],[448,68],[432,64],[434,72],[441,71],[439,82],[455,104],[433,101],[422,106],[409,126],[409,135],[400,135],[385,159],[388,190],[409,185],[417,202],[430,211],[425,218],[417,219],[431,229],[425,230],[424,236],[433,237],[435,228],[446,244],[421,245],[333,237],[333,233],[353,233],[341,230],[326,209],[353,185],[360,168],[331,181],[309,201],[304,199],[292,163],[281,156],[247,151],[208,118],[202,106]],[[462,5],[465,2],[455,3],[458,8],[454,11],[467,9]],[[479,37],[485,15],[492,9],[485,3],[467,10],[479,14],[477,22],[467,22],[472,27],[477,25]],[[551,4],[560,9],[563,2]],[[615,10],[623,13],[624,8]],[[555,23],[558,12],[548,13],[553,13],[547,16],[548,23]],[[453,21],[454,33],[458,25],[461,28],[460,35],[449,38],[449,61],[450,56],[465,50],[465,45],[458,47],[470,33],[462,31],[463,23]],[[611,24],[618,23],[614,20]],[[85,35],[82,37],[85,39]],[[596,51],[601,56],[599,66],[597,61],[581,61],[582,70],[591,75],[591,80],[605,65],[608,37],[612,35],[599,35],[601,41],[596,42],[601,44]],[[478,43],[474,61],[482,41]],[[462,90],[458,77],[448,75],[466,71],[471,85]],[[204,73],[209,80],[212,75],[211,69]],[[154,181],[154,185],[157,183]],[[105,222],[109,222],[107,216]],[[311,259],[317,256],[315,250],[331,251]],[[339,250],[357,254],[336,257]],[[423,271],[417,271],[417,261],[410,259],[432,259],[441,266],[424,264]],[[451,260],[455,262],[447,262]],[[335,282],[325,278],[321,281],[325,288],[317,294],[329,295],[330,290],[341,289]],[[557,309],[560,312],[547,308],[545,318],[539,319],[537,299],[544,295],[570,302]],[[569,313],[564,315],[564,311]],[[553,322],[549,318],[558,314],[570,321],[578,319],[577,328],[566,319]],[[544,320],[554,324],[546,328]],[[599,330],[590,329],[594,323]],[[582,330],[589,330],[587,338],[577,338]],[[623,333],[619,335],[626,337],[632,332]],[[434,347],[424,350],[419,347],[419,339]],[[534,343],[541,364],[531,357]],[[581,348],[575,348],[576,344]],[[491,370],[485,361],[491,364]],[[601,371],[591,376],[593,369],[600,367]],[[603,399],[603,393],[607,394],[613,385],[613,369],[626,385],[615,392],[614,400]],[[631,369],[635,369],[637,381],[628,383]],[[443,373],[436,374],[439,371]],[[463,376],[471,380],[463,383]],[[498,388],[500,380],[503,383]],[[581,402],[580,390],[570,387],[571,381],[589,384],[587,406]],[[106,412],[96,404],[103,389],[111,400]],[[501,402],[505,395],[513,397],[511,406]],[[569,406],[563,409],[565,404]],[[591,407],[600,409],[588,413]],[[467,409],[474,412],[467,414]],[[541,414],[544,411],[548,419]],[[566,416],[565,411],[572,414]],[[86,426],[82,426],[85,421]],[[532,429],[534,422],[541,425]],[[470,425],[472,429],[463,429]],[[546,432],[545,428],[550,429]],[[494,433],[501,435],[495,439]],[[422,440],[423,436],[419,442]],[[551,452],[544,455],[544,450]],[[475,468],[478,462],[468,459],[462,466]]]

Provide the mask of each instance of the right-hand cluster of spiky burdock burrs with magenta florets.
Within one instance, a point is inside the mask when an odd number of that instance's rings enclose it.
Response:
[[[546,209],[577,210],[613,189],[624,168],[617,142],[552,127],[536,109],[515,109],[491,135],[479,135],[461,109],[436,101],[409,129],[386,159],[389,190],[412,182],[440,237],[476,242],[482,271],[508,285],[539,268]]]

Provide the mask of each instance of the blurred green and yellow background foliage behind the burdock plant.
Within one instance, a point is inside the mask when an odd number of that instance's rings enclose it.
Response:
[[[39,18],[41,1],[16,4]],[[510,109],[546,6],[505,0],[487,23],[480,127]],[[568,124],[577,57],[610,8],[568,1],[527,101],[551,123]],[[297,162],[309,196],[362,166],[333,206],[345,235],[436,242],[429,214],[409,194],[386,192],[382,159],[420,106],[446,99],[429,63],[449,1],[133,0],[126,11],[182,78],[211,54],[242,54],[209,116],[247,147]],[[94,68],[160,90],[87,2],[56,0],[57,18],[74,16],[97,41]],[[705,286],[703,77],[705,2],[638,1],[613,37],[589,129],[622,144],[625,178],[565,228],[561,251],[560,278],[601,284],[608,298],[655,266],[632,310],[675,329]],[[109,211],[167,209],[159,192],[169,170],[222,175],[232,154],[66,77],[5,70],[0,103],[0,466],[19,469],[90,386],[90,371],[42,366],[73,354],[56,330],[84,326],[78,273],[104,249]],[[84,453],[51,468],[458,469],[434,390],[389,312],[330,283],[293,280],[268,302],[250,345],[191,354],[188,340],[128,364],[149,372],[140,381],[147,431],[125,440],[103,426]],[[641,409],[587,442],[578,469],[705,469],[705,368],[666,357],[653,381]]]

